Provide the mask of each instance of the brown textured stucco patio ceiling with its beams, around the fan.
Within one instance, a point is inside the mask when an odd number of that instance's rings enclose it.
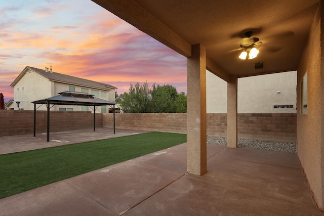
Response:
[[[319,0],[188,1],[92,0],[182,55],[206,47],[207,68],[227,80],[296,70]],[[258,37],[260,53],[241,60],[246,31]],[[263,69],[255,69],[263,62]]]

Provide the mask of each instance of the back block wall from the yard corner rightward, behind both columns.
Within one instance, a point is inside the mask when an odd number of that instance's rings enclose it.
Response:
[[[116,113],[116,128],[185,134],[186,113]],[[103,127],[113,114],[103,114]],[[296,113],[238,113],[238,138],[296,142]],[[227,136],[227,114],[207,113],[207,135]]]

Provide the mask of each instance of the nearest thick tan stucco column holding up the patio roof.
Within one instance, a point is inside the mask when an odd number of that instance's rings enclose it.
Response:
[[[187,171],[207,172],[206,48],[192,46],[187,58]]]

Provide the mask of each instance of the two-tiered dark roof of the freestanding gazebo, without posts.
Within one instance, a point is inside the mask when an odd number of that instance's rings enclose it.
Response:
[[[65,91],[59,93],[57,96],[33,101],[34,104],[57,104],[57,105],[85,105],[85,106],[104,106],[115,105],[115,102],[106,101],[100,98],[93,97],[94,95],[84,92]]]

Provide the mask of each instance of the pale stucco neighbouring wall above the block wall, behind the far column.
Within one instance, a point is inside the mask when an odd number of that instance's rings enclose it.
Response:
[[[206,77],[207,113],[227,112],[227,82]],[[238,113],[296,113],[297,71],[238,78],[237,85]]]

